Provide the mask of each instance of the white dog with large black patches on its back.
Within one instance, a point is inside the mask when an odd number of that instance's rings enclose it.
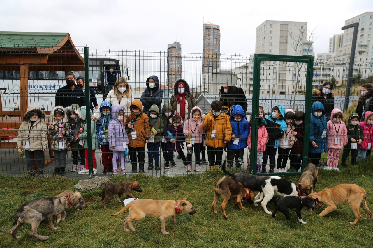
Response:
[[[295,187],[294,182],[273,176],[261,183],[259,194],[257,194],[254,198],[254,206],[258,206],[258,202],[261,201],[261,206],[263,207],[264,212],[267,214],[272,214],[272,212],[267,210],[267,203],[273,198],[275,193],[280,197],[285,197],[288,195],[301,196],[301,191]]]

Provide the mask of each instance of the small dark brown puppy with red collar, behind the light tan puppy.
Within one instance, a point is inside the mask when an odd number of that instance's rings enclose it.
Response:
[[[100,194],[102,204],[104,205],[104,209],[106,209],[106,203],[111,201],[115,194],[118,194],[117,201],[120,202],[120,197],[122,194],[126,194],[128,197],[136,198],[132,195],[131,191],[142,192],[141,185],[134,181],[134,182],[115,182],[113,184],[106,185]]]

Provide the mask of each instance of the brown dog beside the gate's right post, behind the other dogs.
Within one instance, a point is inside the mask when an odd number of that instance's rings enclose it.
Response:
[[[298,188],[303,191],[303,196],[307,196],[316,190],[318,174],[319,171],[317,170],[317,166],[313,163],[308,163],[304,168],[298,183]]]

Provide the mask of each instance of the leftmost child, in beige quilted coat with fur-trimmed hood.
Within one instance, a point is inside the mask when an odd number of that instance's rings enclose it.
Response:
[[[43,175],[44,157],[47,150],[47,126],[45,114],[38,108],[28,108],[19,127],[17,148],[25,151],[27,170],[31,177]],[[38,170],[34,171],[34,156]]]

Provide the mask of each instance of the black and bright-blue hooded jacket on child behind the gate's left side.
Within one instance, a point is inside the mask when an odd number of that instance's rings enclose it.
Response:
[[[288,126],[286,125],[286,122],[284,120],[285,118],[285,107],[284,106],[275,106],[280,110],[281,117],[279,120],[276,120],[276,118],[272,118],[273,109],[271,111],[271,114],[267,116],[266,118],[262,119],[263,124],[266,126],[267,133],[268,133],[268,142],[274,142],[274,147],[277,149],[279,147],[279,139],[283,136],[283,133],[285,133],[286,128]]]

